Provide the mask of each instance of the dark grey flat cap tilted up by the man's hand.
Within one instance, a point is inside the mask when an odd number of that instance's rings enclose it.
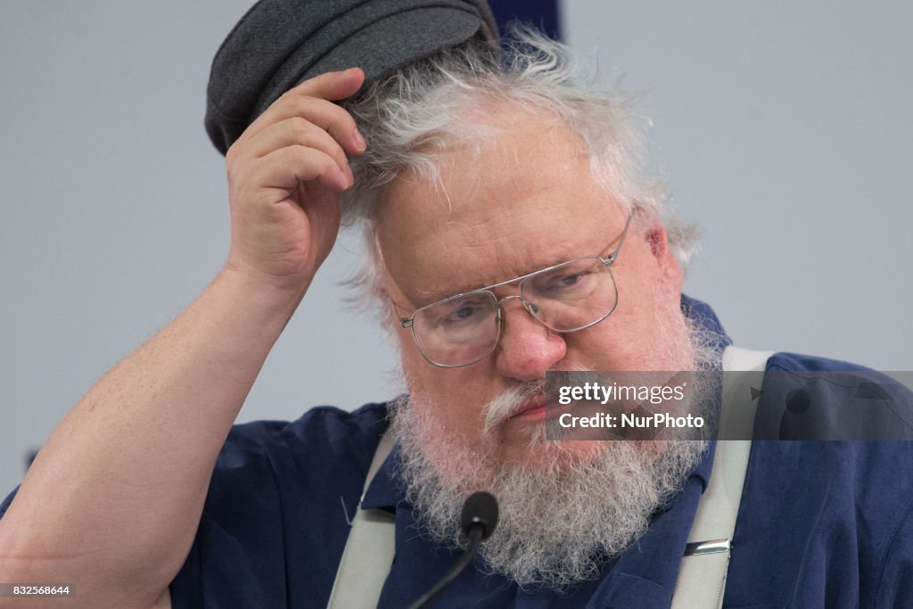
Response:
[[[206,131],[225,154],[304,80],[353,67],[375,79],[475,36],[498,39],[486,0],[260,0],[215,54]]]

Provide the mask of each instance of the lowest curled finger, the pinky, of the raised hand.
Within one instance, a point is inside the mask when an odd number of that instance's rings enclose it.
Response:
[[[273,188],[292,189],[298,184],[317,182],[342,191],[352,185],[329,154],[298,145],[269,152],[257,162],[254,172],[257,184]]]

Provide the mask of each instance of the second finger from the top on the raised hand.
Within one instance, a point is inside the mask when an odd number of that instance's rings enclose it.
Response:
[[[349,112],[331,101],[300,95],[280,98],[250,124],[241,139],[250,140],[269,125],[293,117],[300,117],[329,132],[332,138],[340,143],[346,154],[354,156],[364,152],[364,140]]]

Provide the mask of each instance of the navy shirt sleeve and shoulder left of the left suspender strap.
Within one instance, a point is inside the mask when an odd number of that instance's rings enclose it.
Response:
[[[383,404],[318,407],[236,425],[172,606],[326,606],[385,415]]]

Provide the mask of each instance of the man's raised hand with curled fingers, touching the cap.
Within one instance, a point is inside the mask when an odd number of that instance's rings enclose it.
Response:
[[[353,181],[347,156],[365,149],[355,121],[332,100],[363,81],[359,68],[306,80],[228,150],[227,268],[299,295],[310,285],[339,232],[339,193]]]

